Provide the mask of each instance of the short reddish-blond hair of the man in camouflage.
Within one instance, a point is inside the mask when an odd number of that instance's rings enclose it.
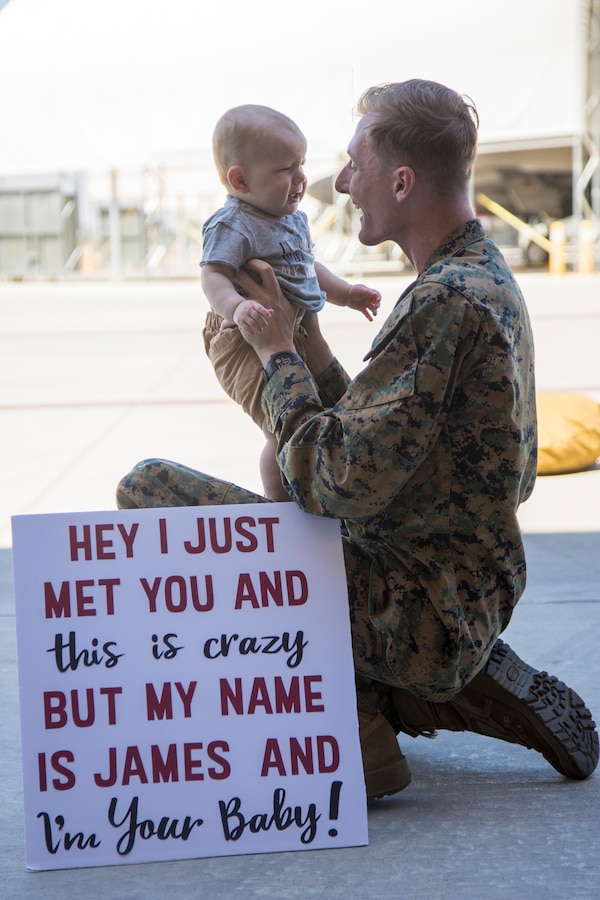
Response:
[[[373,118],[369,137],[383,159],[429,173],[441,190],[468,182],[479,127],[470,97],[413,78],[368,88],[358,112]]]

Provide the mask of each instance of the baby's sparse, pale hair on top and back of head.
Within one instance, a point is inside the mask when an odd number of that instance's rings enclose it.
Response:
[[[306,138],[293,119],[270,106],[247,103],[223,113],[213,132],[213,156],[219,178],[227,184],[231,166],[244,166],[260,157],[265,145],[273,140],[273,126],[294,137]]]

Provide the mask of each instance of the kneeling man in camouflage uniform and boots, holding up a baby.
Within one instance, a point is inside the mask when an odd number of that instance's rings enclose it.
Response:
[[[361,211],[360,240],[395,241],[418,273],[368,365],[349,381],[315,317],[303,363],[270,268],[252,263],[255,277],[236,281],[274,310],[247,340],[284,484],[303,509],[344,520],[367,794],[410,782],[397,732],[438,728],[523,744],[586,778],[598,762],[590,712],[498,639],[525,587],[517,509],[536,471],[534,361],[523,298],[470,201],[477,113],[420,80],[369,89],[359,112],[336,187]],[[262,499],[161,460],[118,491],[124,507]]]

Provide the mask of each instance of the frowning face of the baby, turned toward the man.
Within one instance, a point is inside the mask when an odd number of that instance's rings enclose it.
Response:
[[[301,135],[266,134],[255,159],[244,167],[248,192],[243,199],[277,218],[295,212],[306,191],[305,154]]]

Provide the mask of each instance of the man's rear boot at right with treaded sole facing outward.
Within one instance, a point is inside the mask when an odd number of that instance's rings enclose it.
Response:
[[[447,703],[392,690],[400,729],[473,731],[537,750],[567,778],[587,778],[598,764],[598,732],[575,691],[538,672],[498,640],[485,668]]]

